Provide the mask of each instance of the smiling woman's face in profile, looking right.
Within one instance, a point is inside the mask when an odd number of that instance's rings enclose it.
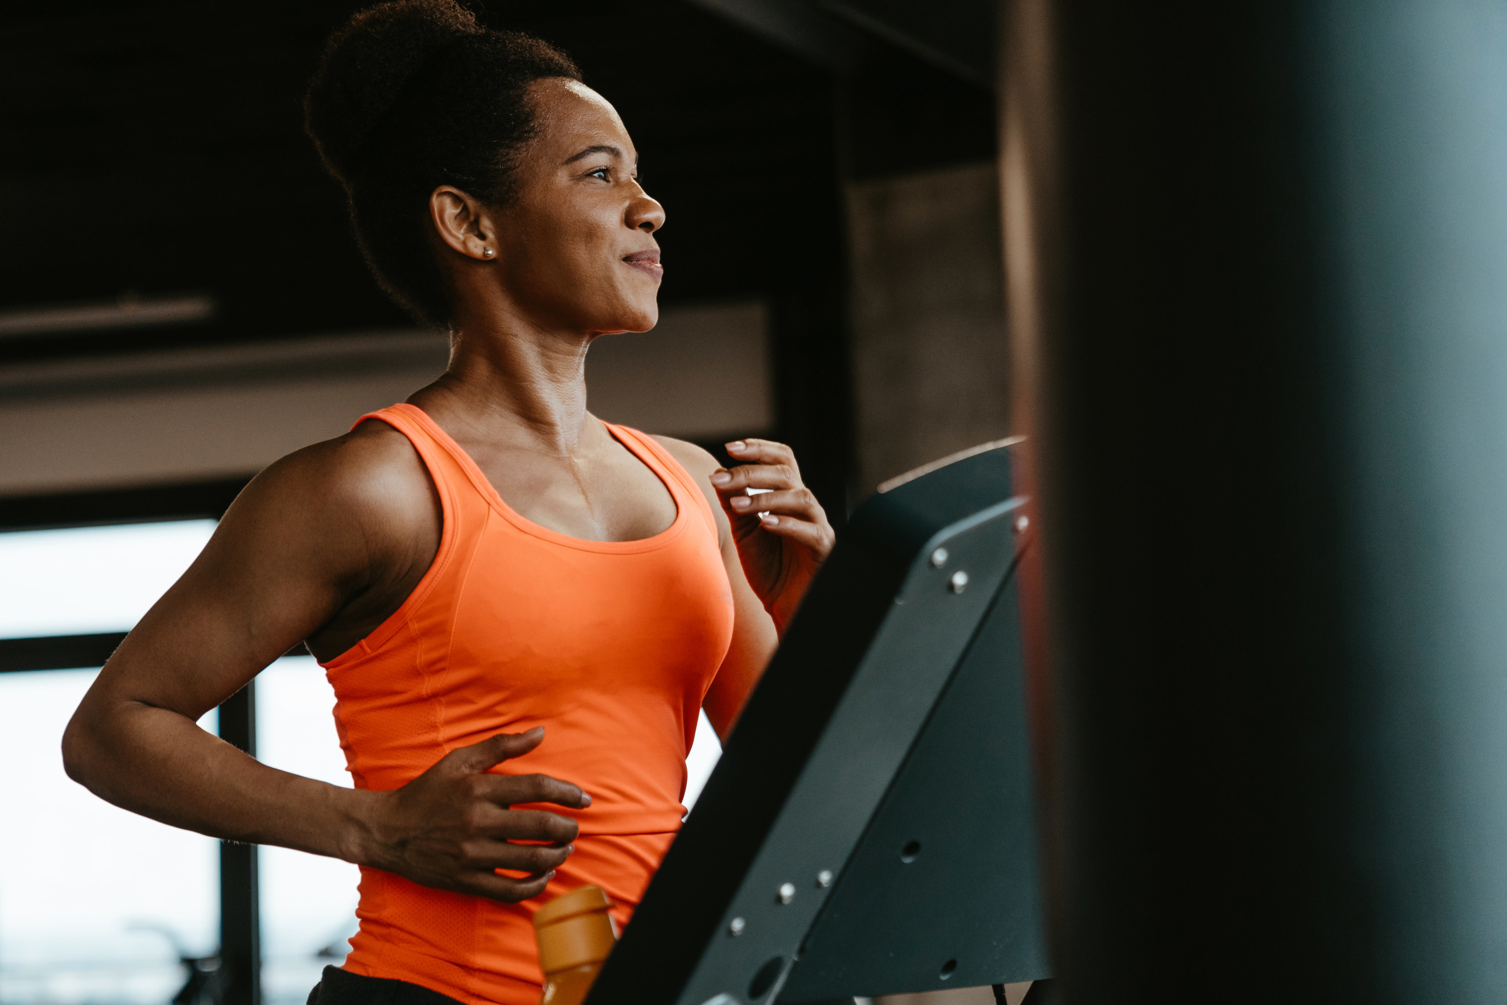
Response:
[[[536,81],[529,96],[540,134],[520,157],[517,199],[494,217],[508,298],[541,327],[653,328],[665,208],[639,187],[622,119],[573,80]]]

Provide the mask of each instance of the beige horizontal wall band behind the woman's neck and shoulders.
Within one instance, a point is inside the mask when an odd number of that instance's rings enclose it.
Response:
[[[598,341],[591,410],[693,440],[773,428],[760,303],[666,310],[654,331]],[[0,368],[0,496],[250,475],[445,371],[431,331]]]

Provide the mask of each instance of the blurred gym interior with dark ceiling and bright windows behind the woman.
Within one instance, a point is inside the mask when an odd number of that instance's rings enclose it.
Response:
[[[225,934],[291,1005],[347,951],[354,866],[116,811],[57,741],[252,475],[445,366],[301,130],[360,6],[0,12],[0,1002],[217,1000]],[[592,348],[592,411],[785,440],[835,523],[1011,432],[992,3],[472,6],[580,62],[668,211],[660,325]],[[332,702],[289,655],[205,726],[348,784]],[[704,729],[687,802],[716,753]]]

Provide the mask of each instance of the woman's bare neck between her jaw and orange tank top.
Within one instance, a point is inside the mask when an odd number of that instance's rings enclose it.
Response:
[[[595,431],[586,416],[591,342],[591,334],[515,319],[461,318],[451,331],[449,368],[413,401],[442,425],[490,441],[576,457]]]

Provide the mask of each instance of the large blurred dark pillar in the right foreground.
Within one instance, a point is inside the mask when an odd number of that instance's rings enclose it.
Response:
[[[1005,9],[1065,1000],[1507,1000],[1507,11]]]

